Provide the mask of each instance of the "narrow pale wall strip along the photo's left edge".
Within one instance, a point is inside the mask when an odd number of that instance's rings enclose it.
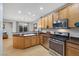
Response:
[[[3,5],[0,3],[0,55],[3,55],[3,39],[2,39],[2,28],[3,28]]]

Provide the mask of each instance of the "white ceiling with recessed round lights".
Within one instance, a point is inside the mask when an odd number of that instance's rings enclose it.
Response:
[[[4,3],[4,20],[32,22],[66,3]]]

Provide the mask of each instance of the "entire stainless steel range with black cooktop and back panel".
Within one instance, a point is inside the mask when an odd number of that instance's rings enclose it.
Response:
[[[65,55],[65,42],[69,39],[67,32],[54,32],[53,36],[49,39],[49,52],[51,54]]]

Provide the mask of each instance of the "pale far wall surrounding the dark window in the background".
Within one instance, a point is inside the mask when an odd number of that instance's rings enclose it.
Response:
[[[5,24],[5,30],[8,32],[8,35],[11,36],[12,33],[19,32],[19,25],[27,24],[28,31],[33,30],[33,23],[27,23],[27,22],[16,22],[16,21],[9,21],[4,19]],[[4,30],[4,31],[5,31]]]

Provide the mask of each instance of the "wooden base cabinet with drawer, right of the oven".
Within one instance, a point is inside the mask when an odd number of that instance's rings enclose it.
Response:
[[[66,44],[66,55],[67,56],[79,56],[79,45],[67,43]]]

